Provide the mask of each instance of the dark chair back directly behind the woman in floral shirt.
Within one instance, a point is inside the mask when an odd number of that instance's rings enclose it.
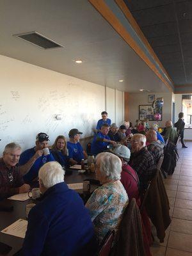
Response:
[[[115,230],[109,230],[100,244],[98,256],[108,256],[115,237]]]

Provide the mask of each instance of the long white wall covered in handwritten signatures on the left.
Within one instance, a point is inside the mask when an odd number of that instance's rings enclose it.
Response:
[[[12,141],[23,149],[33,147],[38,132],[49,134],[51,143],[72,128],[82,131],[82,137],[92,136],[104,110],[112,122],[115,116],[117,123],[122,122],[124,109],[119,101],[124,93],[116,90],[115,100],[115,90],[106,88],[105,95],[99,84],[5,56],[0,56],[0,84],[0,154]],[[62,120],[56,120],[58,114]]]

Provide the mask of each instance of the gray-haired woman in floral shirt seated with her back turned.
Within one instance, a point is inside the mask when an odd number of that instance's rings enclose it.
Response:
[[[96,189],[86,207],[90,210],[99,243],[109,230],[117,230],[128,204],[128,196],[120,182],[122,162],[114,154],[103,152],[96,157],[96,179],[102,186]]]

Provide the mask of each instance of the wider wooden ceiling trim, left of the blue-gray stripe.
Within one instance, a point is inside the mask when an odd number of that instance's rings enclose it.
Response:
[[[104,0],[89,0],[89,2],[95,7],[95,9],[106,19],[109,24],[116,30],[116,32],[124,38],[125,42],[129,44],[129,46],[140,56],[140,58],[145,61],[148,67],[156,74],[161,81],[168,87],[170,92],[173,92],[172,86],[164,79],[164,77],[159,73],[154,63],[152,63],[148,57],[146,56],[145,52],[142,51],[140,46],[133,40],[132,36],[127,32],[127,29],[121,24],[121,22],[117,19],[117,17],[113,14],[113,12],[109,9]]]

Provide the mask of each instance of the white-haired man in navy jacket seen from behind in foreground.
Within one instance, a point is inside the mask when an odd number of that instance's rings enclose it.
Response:
[[[22,255],[92,256],[91,218],[76,191],[64,182],[61,165],[46,163],[38,173],[42,200],[29,212]]]

